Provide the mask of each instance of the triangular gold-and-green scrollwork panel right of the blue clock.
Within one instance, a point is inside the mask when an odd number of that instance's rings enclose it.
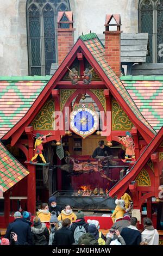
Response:
[[[133,123],[115,99],[112,99],[112,130],[131,130]]]

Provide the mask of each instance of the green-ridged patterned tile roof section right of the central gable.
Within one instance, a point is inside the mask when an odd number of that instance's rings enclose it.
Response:
[[[163,126],[163,76],[122,76],[121,80],[143,117],[158,132]]]

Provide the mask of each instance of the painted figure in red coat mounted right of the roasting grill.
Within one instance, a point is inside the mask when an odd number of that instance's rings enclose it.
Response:
[[[134,141],[131,138],[131,133],[126,132],[126,137],[120,138],[120,141],[123,142],[124,146],[126,147],[126,153],[125,153],[125,159],[121,159],[124,163],[130,159],[129,156],[131,156],[131,161],[136,162],[135,159],[135,147],[134,147]]]

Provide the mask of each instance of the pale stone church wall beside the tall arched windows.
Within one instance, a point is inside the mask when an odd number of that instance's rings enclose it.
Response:
[[[121,14],[122,31],[138,32],[139,0],[70,0],[75,41],[82,32],[103,33],[106,14]],[[28,75],[26,0],[1,0],[0,76]]]

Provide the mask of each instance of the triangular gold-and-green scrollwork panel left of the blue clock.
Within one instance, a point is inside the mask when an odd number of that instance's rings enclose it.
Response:
[[[53,130],[54,101],[49,100],[34,119],[34,130]]]

